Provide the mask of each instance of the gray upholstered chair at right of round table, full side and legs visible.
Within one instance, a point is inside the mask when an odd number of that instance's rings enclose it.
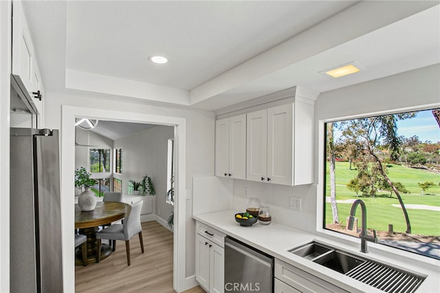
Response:
[[[104,230],[96,234],[97,241],[97,259],[96,262],[100,262],[101,254],[101,239],[109,240],[124,240],[126,250],[126,262],[131,265],[130,262],[130,239],[136,234],[139,235],[140,249],[144,253],[144,240],[142,239],[142,226],[140,224],[140,212],[142,210],[142,204],[144,202],[136,202],[129,207],[124,217],[124,224],[113,224]]]

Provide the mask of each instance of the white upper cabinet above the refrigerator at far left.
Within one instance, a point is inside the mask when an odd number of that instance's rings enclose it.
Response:
[[[37,121],[42,127],[43,85],[21,1],[12,3],[12,85],[23,94],[30,110],[41,116]]]

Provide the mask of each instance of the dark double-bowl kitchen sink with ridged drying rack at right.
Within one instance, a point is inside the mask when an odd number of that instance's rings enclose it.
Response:
[[[415,292],[426,279],[426,276],[419,276],[384,263],[371,261],[364,256],[359,257],[316,241],[289,250],[289,252],[384,292]]]

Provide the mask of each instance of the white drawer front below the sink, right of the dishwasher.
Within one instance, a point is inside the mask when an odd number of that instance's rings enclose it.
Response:
[[[347,292],[279,259],[275,259],[275,277],[300,292]]]

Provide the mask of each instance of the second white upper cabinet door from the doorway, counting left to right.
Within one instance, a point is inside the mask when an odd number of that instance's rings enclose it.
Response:
[[[229,118],[229,173],[246,179],[246,114]]]

